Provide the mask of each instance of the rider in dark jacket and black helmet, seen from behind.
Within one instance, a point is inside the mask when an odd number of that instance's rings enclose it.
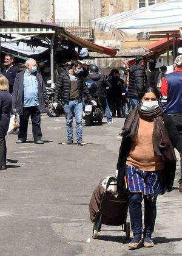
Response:
[[[106,89],[110,88],[109,82],[103,76],[103,74],[99,73],[98,66],[90,65],[89,66],[89,74],[86,77],[87,81],[93,81],[98,85],[98,99],[102,104],[103,111],[107,117],[107,124],[112,124],[112,116],[110,115],[110,111],[106,112],[107,107],[107,98],[106,98]]]

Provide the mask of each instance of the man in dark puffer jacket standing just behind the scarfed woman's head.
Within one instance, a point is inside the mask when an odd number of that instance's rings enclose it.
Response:
[[[136,57],[135,65],[129,68],[129,87],[127,98],[133,108],[138,105],[138,91],[147,85],[147,76],[145,72],[145,61],[143,56]]]

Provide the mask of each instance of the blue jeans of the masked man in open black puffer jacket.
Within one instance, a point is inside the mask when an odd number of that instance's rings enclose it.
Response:
[[[64,105],[66,115],[67,138],[73,141],[73,116],[76,118],[76,140],[82,139],[82,113],[83,103],[77,100],[70,101],[69,105]]]

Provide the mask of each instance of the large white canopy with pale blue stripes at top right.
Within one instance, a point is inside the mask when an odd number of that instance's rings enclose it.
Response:
[[[124,35],[136,35],[140,32],[178,30],[181,25],[182,2],[179,0],[170,0],[92,21],[94,29],[113,35],[116,30]]]

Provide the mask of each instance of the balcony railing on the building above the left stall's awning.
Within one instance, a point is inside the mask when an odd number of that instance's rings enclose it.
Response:
[[[59,26],[64,27],[67,31],[83,39],[92,40],[93,39],[93,29],[90,26],[89,21],[62,21],[55,20],[55,23]]]

